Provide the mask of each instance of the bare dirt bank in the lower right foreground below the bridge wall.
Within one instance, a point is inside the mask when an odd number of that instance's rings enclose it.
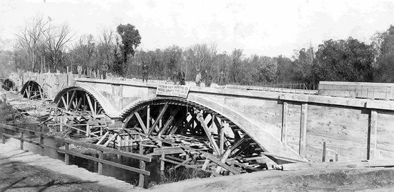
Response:
[[[394,191],[394,168],[259,171],[192,179],[149,191]]]

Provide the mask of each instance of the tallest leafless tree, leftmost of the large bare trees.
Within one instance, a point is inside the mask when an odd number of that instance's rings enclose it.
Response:
[[[26,22],[24,28],[17,34],[19,48],[26,53],[27,60],[31,64],[31,70],[35,71],[39,46],[44,43],[44,33],[48,30],[47,19],[43,17],[32,17]]]

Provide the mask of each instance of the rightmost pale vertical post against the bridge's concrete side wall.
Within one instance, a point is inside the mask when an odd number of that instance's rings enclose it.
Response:
[[[370,110],[368,116],[368,143],[366,151],[366,159],[373,160],[376,153],[377,144],[377,111],[375,109]]]

